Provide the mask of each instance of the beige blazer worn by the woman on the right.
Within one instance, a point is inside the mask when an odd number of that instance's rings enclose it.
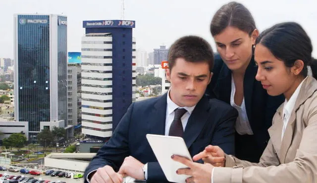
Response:
[[[308,76],[303,82],[281,141],[283,106],[260,162],[226,155],[226,167],[234,168],[215,168],[214,183],[317,183],[317,80]]]

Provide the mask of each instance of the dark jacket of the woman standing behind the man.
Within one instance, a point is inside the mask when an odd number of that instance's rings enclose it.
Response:
[[[243,81],[243,92],[246,111],[254,135],[236,133],[236,157],[251,162],[259,162],[269,140],[267,129],[272,125],[276,109],[284,102],[283,95],[269,96],[261,82],[256,80],[258,68],[254,57],[246,70]],[[211,83],[206,90],[210,98],[216,98],[230,104],[231,70],[224,64],[221,57],[215,55]]]

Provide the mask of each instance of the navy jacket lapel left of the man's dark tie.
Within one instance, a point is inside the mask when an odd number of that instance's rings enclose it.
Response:
[[[148,129],[150,134],[165,135],[166,100],[167,92],[159,98],[157,103],[154,105],[155,109],[149,113],[151,121],[148,123]]]

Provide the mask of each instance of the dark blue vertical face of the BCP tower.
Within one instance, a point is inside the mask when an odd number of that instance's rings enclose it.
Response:
[[[132,103],[132,27],[86,27],[86,34],[90,33],[112,35],[112,130],[114,130]]]

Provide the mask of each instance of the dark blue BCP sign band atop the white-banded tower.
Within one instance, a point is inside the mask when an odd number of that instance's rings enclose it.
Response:
[[[133,20],[91,20],[83,21],[83,28],[135,28],[135,21]]]

